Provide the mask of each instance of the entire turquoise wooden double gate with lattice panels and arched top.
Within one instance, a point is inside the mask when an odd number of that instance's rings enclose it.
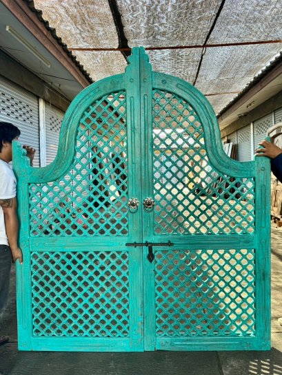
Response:
[[[152,72],[94,83],[19,183],[19,349],[268,350],[270,163],[221,146],[205,97]]]

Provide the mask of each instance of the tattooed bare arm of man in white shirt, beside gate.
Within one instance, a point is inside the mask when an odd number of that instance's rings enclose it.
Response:
[[[12,252],[12,259],[13,261],[19,259],[20,264],[22,264],[23,255],[21,253],[21,249],[18,246],[19,220],[17,215],[17,197],[0,200],[0,205],[3,208],[6,234]]]

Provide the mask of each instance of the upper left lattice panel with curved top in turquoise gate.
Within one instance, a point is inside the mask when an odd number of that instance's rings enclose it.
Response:
[[[128,233],[125,94],[103,96],[81,117],[67,175],[30,184],[32,236]]]

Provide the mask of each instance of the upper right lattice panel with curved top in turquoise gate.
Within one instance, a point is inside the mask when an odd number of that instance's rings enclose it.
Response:
[[[154,90],[156,234],[253,233],[254,179],[208,160],[203,126],[183,98]]]

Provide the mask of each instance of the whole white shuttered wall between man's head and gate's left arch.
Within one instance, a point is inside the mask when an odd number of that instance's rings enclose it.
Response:
[[[0,76],[0,120],[19,127],[21,144],[37,150],[34,167],[45,167],[54,160],[63,115],[52,103]]]

